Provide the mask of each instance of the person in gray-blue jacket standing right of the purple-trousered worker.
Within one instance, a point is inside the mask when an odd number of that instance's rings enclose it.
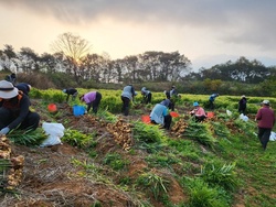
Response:
[[[137,95],[137,92],[135,91],[135,88],[131,84],[124,87],[123,92],[120,95],[120,98],[123,101],[121,112],[125,116],[129,115],[130,102],[131,102],[131,100],[134,100],[136,95]]]

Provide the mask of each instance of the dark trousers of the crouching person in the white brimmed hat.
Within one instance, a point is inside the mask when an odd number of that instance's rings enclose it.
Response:
[[[12,121],[18,117],[12,116],[12,112],[9,109],[0,108],[0,130],[8,127]],[[31,129],[35,130],[40,123],[40,116],[36,112],[29,111],[25,119],[19,126],[19,129]]]

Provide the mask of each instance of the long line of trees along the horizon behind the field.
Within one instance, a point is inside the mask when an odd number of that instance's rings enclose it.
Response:
[[[266,67],[257,59],[240,57],[236,62],[217,64],[192,72],[191,62],[179,52],[148,51],[142,54],[110,59],[107,53],[89,53],[89,43],[72,33],[61,34],[52,44],[53,54],[38,55],[30,47],[15,52],[12,45],[0,50],[0,67],[13,73],[56,73],[71,76],[78,86],[93,83],[172,83],[183,91],[212,92],[235,88],[241,84],[266,86],[264,95],[275,89],[276,66]],[[230,83],[230,86],[227,84]],[[195,90],[194,90],[195,89]],[[274,90],[275,91],[275,90]]]

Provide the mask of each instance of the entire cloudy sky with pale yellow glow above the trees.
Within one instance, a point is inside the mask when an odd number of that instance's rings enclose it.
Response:
[[[276,0],[0,0],[0,50],[39,55],[65,32],[112,59],[176,52],[192,68],[245,56],[276,65]]]

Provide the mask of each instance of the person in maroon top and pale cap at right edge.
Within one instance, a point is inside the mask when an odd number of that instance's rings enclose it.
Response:
[[[269,100],[262,102],[262,108],[258,109],[255,120],[258,127],[258,139],[264,150],[269,141],[272,129],[275,124],[274,110],[270,109]]]

